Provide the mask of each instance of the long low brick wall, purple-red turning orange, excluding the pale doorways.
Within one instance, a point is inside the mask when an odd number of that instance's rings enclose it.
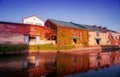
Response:
[[[40,35],[44,39],[50,32],[50,29],[38,25],[0,22],[0,43],[24,43],[24,34]]]

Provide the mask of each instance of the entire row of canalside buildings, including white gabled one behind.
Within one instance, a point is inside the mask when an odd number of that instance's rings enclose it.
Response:
[[[101,26],[90,26],[37,16],[23,23],[0,22],[0,44],[120,45],[120,33]]]

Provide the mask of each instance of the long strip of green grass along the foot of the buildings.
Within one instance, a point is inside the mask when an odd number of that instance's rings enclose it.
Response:
[[[0,52],[15,52],[23,50],[67,50],[74,48],[73,45],[55,45],[55,44],[42,44],[42,45],[24,45],[24,44],[0,44]]]

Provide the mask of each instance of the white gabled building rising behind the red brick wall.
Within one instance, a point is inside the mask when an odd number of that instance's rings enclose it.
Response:
[[[37,16],[25,17],[23,18],[22,22],[24,24],[34,24],[34,25],[44,26],[44,21]]]

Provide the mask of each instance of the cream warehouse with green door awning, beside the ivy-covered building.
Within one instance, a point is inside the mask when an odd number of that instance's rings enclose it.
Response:
[[[86,30],[88,30],[88,35],[89,35],[88,44],[89,45],[91,45],[91,46],[106,45],[106,43],[107,43],[106,31],[104,31],[96,26],[83,25],[83,24],[75,24],[75,25],[78,27],[84,27]]]

